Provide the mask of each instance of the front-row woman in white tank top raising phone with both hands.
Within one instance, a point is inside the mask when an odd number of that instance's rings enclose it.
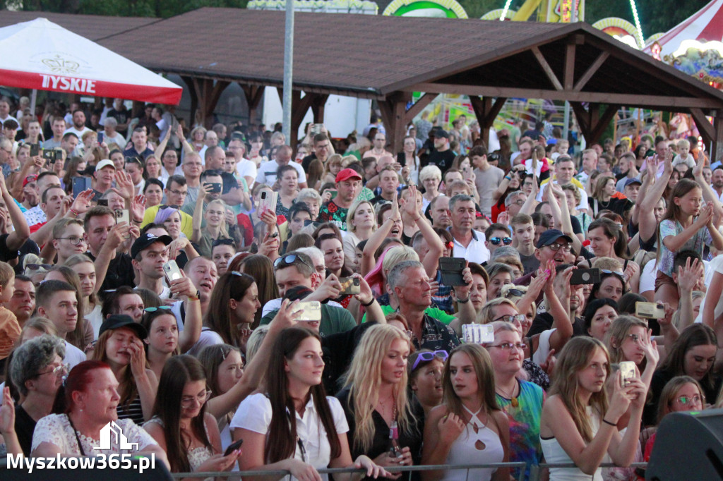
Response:
[[[608,400],[609,374],[607,349],[597,339],[575,337],[560,352],[550,396],[542,408],[540,442],[547,462],[573,462],[577,469],[550,468],[550,480],[602,481],[605,454],[619,467],[633,461],[647,389],[639,373],[624,384],[618,372]],[[628,427],[620,436],[617,422],[629,407]]]

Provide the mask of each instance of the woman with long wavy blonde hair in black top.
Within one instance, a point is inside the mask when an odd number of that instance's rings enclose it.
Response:
[[[419,464],[422,433],[406,389],[410,348],[406,333],[389,325],[372,326],[356,347],[337,394],[352,457],[366,454],[382,467]]]

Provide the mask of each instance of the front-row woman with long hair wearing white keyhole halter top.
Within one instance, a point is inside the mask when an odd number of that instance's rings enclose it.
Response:
[[[495,371],[487,350],[463,344],[442,373],[442,404],[424,423],[422,464],[508,462],[510,425],[495,397]],[[422,473],[427,480],[508,481],[508,468],[453,469]]]

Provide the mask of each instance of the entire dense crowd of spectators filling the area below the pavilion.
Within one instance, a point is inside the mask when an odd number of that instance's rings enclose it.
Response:
[[[698,144],[576,152],[545,118],[490,152],[423,113],[395,153],[377,118],[296,143],[45,108],[0,100],[9,454],[126,452],[97,447],[113,421],[171,472],[639,480],[662,417],[723,404],[723,167]]]

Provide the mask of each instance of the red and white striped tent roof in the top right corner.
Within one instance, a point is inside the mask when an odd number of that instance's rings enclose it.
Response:
[[[697,40],[699,43],[723,41],[723,0],[712,0],[679,25],[665,32],[654,43],[660,45],[660,58],[664,58],[675,53],[685,40]],[[651,53],[652,45],[653,43],[646,45],[644,51]]]

